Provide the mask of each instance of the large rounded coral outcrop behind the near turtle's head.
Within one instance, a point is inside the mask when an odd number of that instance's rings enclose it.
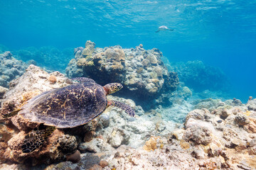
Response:
[[[75,59],[66,68],[68,77],[90,77],[100,84],[120,82],[124,93],[133,98],[156,98],[161,91],[174,91],[178,85],[177,74],[167,71],[156,48],[94,47],[94,42],[87,41],[85,49],[75,49]]]

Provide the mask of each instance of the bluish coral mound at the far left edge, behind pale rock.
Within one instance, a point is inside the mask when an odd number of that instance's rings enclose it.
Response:
[[[20,77],[28,65],[12,57],[11,52],[0,54],[0,86],[8,87],[9,82]]]

